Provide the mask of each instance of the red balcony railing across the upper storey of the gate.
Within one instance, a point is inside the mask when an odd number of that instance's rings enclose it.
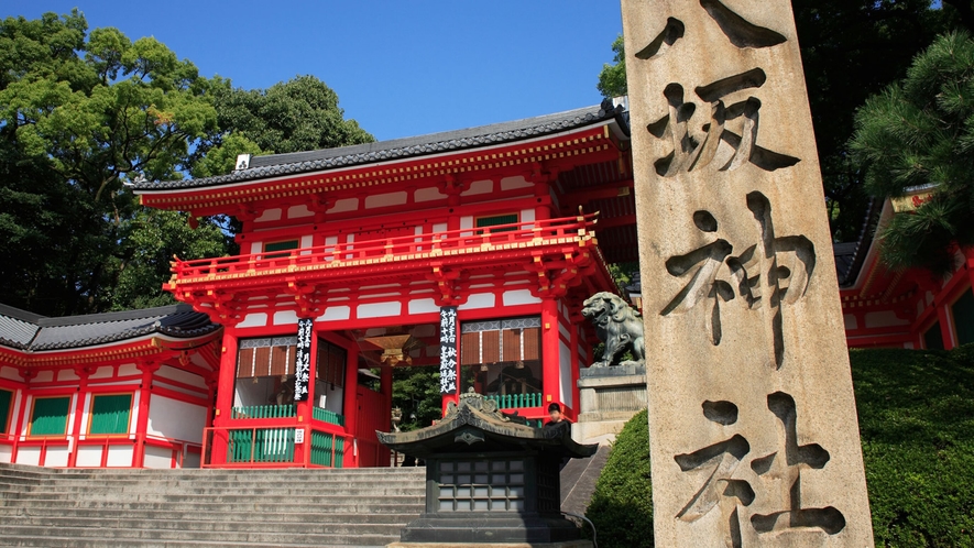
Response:
[[[176,257],[172,272],[177,280],[206,277],[228,273],[256,272],[265,268],[307,266],[361,260],[392,261],[402,255],[429,253],[447,254],[459,250],[489,249],[494,245],[522,242],[544,242],[546,239],[581,238],[598,222],[598,213],[559,219],[513,222],[484,228],[468,228],[441,232],[425,232],[349,243],[333,243],[287,251],[271,251],[243,255],[183,261]]]

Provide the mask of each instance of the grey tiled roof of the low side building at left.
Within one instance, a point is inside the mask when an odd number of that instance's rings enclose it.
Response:
[[[26,351],[90,347],[152,333],[188,339],[219,328],[189,305],[64,318],[0,305],[0,344]]]

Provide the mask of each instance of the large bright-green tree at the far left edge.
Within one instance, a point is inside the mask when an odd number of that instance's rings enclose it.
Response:
[[[154,39],[86,35],[75,10],[0,21],[0,300],[102,310],[139,210],[123,182],[173,178],[217,125],[209,83]]]

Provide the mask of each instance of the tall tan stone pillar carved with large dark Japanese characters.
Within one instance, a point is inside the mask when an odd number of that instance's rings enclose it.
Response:
[[[872,546],[787,0],[623,0],[658,546]]]

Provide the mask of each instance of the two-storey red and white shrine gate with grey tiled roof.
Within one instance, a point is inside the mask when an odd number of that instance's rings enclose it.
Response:
[[[223,326],[203,465],[387,465],[392,369],[440,368],[441,348],[445,406],[474,390],[574,418],[582,302],[617,291],[606,254],[636,257],[626,132],[604,105],[138,184],[146,206],[243,222],[242,254],[177,260],[166,285]]]

